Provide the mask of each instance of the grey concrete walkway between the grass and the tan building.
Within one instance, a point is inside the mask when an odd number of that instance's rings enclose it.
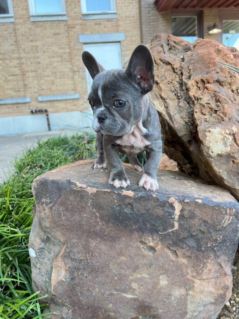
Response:
[[[8,176],[12,171],[12,161],[27,147],[31,147],[38,139],[46,140],[49,137],[77,133],[76,130],[53,130],[33,132],[25,134],[11,134],[0,136],[0,182],[3,182],[5,174]]]

